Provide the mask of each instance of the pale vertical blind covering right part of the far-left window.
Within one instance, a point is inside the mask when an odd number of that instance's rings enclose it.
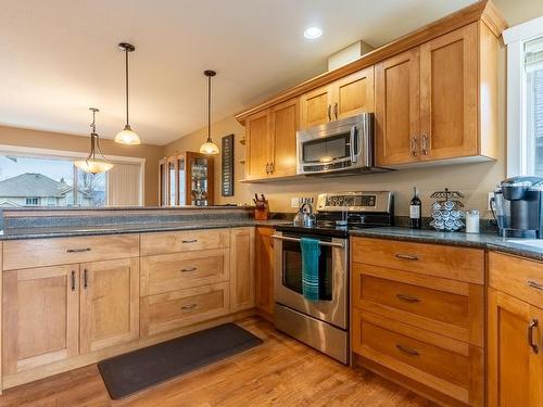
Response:
[[[115,163],[108,171],[108,206],[141,204],[141,166]]]

